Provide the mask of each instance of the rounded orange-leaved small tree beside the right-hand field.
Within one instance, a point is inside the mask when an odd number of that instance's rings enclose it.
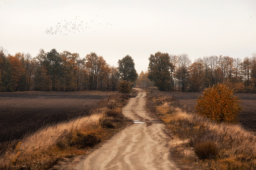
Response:
[[[224,84],[205,89],[203,96],[197,98],[196,111],[217,122],[237,122],[241,111],[240,100],[233,90]]]

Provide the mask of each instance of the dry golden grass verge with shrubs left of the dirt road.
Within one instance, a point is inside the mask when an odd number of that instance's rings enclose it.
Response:
[[[91,110],[91,115],[48,125],[0,155],[0,169],[48,169],[65,158],[86,154],[125,126],[121,107],[130,94],[114,94]]]

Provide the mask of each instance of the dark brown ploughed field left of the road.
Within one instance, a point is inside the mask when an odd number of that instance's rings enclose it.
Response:
[[[115,92],[0,93],[0,143],[20,139],[38,129],[88,115],[97,103]]]

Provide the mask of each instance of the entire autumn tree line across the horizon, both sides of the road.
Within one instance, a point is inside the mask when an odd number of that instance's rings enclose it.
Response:
[[[137,79],[138,78],[138,79]],[[256,53],[251,57],[209,56],[193,63],[187,54],[157,52],[149,57],[146,72],[138,76],[134,60],[126,55],[118,67],[96,53],[40,49],[35,58],[27,53],[5,54],[0,48],[0,91],[116,90],[120,80],[159,90],[202,91],[224,83],[236,92],[256,92]]]

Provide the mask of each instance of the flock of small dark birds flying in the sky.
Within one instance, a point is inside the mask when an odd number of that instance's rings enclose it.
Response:
[[[46,29],[44,33],[48,35],[67,36],[69,33],[85,32],[87,29],[90,29],[92,24],[104,25],[102,23],[97,23],[93,20],[90,20],[90,22],[86,23],[84,21],[81,21],[79,18],[80,16],[77,16],[76,18],[73,18],[71,20],[62,20],[58,22],[58,24],[55,25],[54,27]],[[106,23],[106,25],[112,26],[112,24],[108,23]]]

